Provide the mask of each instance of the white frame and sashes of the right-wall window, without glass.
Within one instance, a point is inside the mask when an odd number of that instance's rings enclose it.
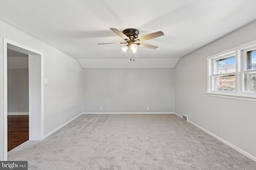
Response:
[[[224,98],[236,98],[241,100],[252,100],[256,101],[256,93],[254,92],[244,92],[244,75],[247,72],[254,73],[256,70],[242,70],[245,68],[245,58],[242,55],[245,55],[247,51],[251,51],[255,49],[256,41],[252,41],[250,43],[241,45],[239,47],[235,47],[233,49],[229,49],[227,51],[223,51],[222,53],[218,53],[216,55],[212,55],[207,57],[207,92],[209,96],[218,96]],[[243,53],[243,54],[242,54]],[[222,73],[216,74],[214,72],[213,63],[216,60],[228,57],[228,56],[236,56],[236,72],[231,73]],[[243,64],[243,65],[242,65]],[[225,75],[235,75],[235,91],[221,91],[214,90],[214,76],[225,76]]]

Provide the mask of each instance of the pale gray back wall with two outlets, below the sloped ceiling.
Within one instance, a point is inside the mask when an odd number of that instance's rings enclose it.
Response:
[[[84,112],[174,112],[174,69],[84,69],[83,94]]]

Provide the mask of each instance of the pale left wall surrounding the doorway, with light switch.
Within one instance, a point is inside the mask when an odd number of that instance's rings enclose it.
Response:
[[[3,37],[44,53],[44,135],[82,113],[83,70],[76,59],[0,21],[0,160],[4,160]]]

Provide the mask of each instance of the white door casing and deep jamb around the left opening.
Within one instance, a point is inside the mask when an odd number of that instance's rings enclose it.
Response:
[[[42,140],[44,137],[44,53],[4,38],[4,160],[8,156],[8,50],[28,55],[28,139]]]

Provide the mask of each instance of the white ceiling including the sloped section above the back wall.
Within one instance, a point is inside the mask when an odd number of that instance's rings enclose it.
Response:
[[[255,9],[256,0],[1,0],[0,18],[84,68],[173,68],[180,57],[255,21]],[[122,44],[97,45],[124,41],[112,27],[164,36],[144,41],[157,49],[132,55]]]

